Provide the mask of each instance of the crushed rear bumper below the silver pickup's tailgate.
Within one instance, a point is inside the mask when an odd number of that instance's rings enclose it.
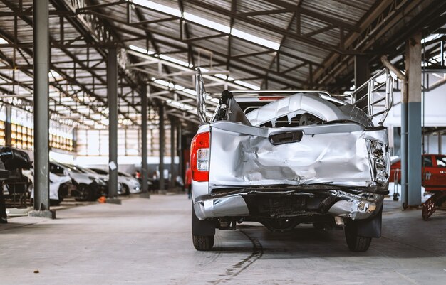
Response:
[[[348,193],[341,190],[236,193],[219,197],[197,197],[199,220],[214,217],[299,217],[333,215],[353,220],[368,219],[380,210],[383,195]]]

